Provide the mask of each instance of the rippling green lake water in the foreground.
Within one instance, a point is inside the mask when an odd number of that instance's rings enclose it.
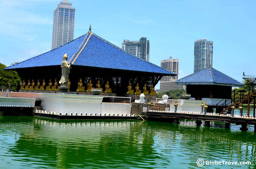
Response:
[[[0,169],[256,168],[253,126],[244,132],[239,125],[212,125],[0,116]],[[199,158],[251,165],[198,167]]]

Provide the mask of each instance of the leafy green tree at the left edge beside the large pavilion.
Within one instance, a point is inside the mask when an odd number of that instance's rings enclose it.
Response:
[[[0,63],[0,87],[16,91],[17,85],[21,83],[20,77],[16,71],[6,71],[5,68],[6,65]]]

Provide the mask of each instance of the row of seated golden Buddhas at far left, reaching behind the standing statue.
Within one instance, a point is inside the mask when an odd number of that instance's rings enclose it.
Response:
[[[57,78],[55,78],[54,85],[52,84],[52,80],[49,79],[49,83],[46,86],[45,80],[43,79],[43,83],[41,85],[40,80],[37,80],[37,84],[35,84],[34,79],[32,79],[32,83],[30,82],[30,79],[28,79],[27,85],[25,82],[25,79],[23,80],[23,83],[20,87],[21,90],[60,90],[60,86],[58,86]],[[70,87],[70,81],[68,79],[68,87]]]

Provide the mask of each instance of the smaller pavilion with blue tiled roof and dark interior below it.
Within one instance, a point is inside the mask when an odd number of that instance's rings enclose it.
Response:
[[[187,94],[195,100],[202,98],[223,99],[230,95],[232,87],[241,87],[242,83],[212,68],[206,68],[176,81],[179,85],[187,85]]]

